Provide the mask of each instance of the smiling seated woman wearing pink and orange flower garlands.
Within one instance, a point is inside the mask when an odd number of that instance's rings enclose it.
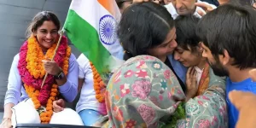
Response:
[[[83,125],[71,109],[53,112],[53,102],[60,95],[73,102],[78,94],[79,65],[64,36],[51,61],[60,29],[60,21],[49,11],[40,12],[32,19],[28,38],[15,55],[9,72],[1,127],[15,127],[20,123]],[[67,121],[70,117],[76,120]]]

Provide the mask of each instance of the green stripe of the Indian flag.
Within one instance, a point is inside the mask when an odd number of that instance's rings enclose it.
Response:
[[[108,62],[112,60],[112,56],[102,45],[98,32],[93,26],[70,9],[64,29],[75,47],[92,61],[98,73],[108,72]]]

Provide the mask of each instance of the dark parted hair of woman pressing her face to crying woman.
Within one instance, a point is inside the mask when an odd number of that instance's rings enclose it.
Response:
[[[164,42],[173,27],[174,20],[165,7],[152,2],[131,5],[125,9],[118,27],[124,59],[147,55],[148,49]]]

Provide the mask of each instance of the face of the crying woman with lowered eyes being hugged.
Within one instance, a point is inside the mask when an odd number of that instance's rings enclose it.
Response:
[[[183,49],[180,46],[174,50],[174,59],[180,61],[184,67],[195,67],[201,62],[202,56],[201,51],[195,49],[196,51],[191,51]]]

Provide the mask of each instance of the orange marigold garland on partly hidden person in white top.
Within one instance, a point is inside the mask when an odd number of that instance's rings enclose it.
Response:
[[[103,82],[101,75],[97,72],[96,67],[90,62],[90,67],[93,73],[94,90],[96,92],[96,99],[98,102],[105,102],[106,84]]]

